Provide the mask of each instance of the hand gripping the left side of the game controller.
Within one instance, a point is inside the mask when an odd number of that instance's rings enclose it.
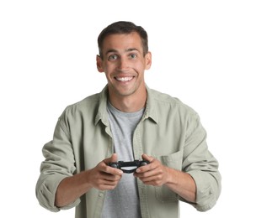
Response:
[[[111,158],[106,158],[95,168],[88,171],[88,183],[95,189],[109,190],[115,189],[119,183],[123,171],[108,166],[110,162],[117,162],[117,154],[114,153]]]

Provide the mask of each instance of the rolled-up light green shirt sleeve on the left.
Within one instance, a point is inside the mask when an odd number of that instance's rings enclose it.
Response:
[[[41,163],[40,176],[35,187],[40,205],[54,212],[78,205],[79,199],[65,207],[58,208],[55,205],[58,185],[62,179],[72,176],[76,170],[68,122],[63,114],[56,124],[53,140],[45,144],[42,153],[45,160]]]

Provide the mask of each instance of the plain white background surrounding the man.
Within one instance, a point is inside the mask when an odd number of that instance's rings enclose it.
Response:
[[[118,20],[147,30],[147,85],[199,112],[220,162],[216,206],[201,213],[182,203],[181,217],[255,217],[254,2],[1,1],[1,217],[73,217],[35,198],[41,148],[67,105],[105,85],[96,39]]]

